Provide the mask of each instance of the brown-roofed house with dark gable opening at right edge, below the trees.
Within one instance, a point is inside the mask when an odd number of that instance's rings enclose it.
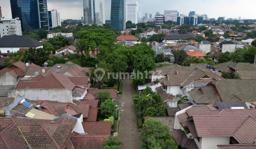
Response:
[[[256,66],[250,63],[224,62],[213,66],[215,72],[236,72],[241,79],[256,79]]]

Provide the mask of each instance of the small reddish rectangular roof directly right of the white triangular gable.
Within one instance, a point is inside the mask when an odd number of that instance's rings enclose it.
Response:
[[[112,122],[82,122],[85,133],[110,134]]]

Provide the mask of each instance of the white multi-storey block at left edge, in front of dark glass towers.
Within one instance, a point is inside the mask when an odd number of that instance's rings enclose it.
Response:
[[[6,35],[22,35],[21,21],[19,18],[0,20],[0,38]]]

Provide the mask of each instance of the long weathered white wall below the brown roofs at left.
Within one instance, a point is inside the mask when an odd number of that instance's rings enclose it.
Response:
[[[29,100],[50,100],[72,103],[72,92],[67,89],[25,89],[11,90],[8,93],[9,98],[15,98],[17,95],[25,95],[24,98]]]

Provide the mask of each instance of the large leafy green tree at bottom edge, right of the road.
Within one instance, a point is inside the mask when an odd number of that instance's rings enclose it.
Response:
[[[144,127],[140,131],[140,137],[142,148],[168,148],[177,149],[178,145],[176,140],[169,134],[170,128],[168,126],[162,125],[158,120],[153,120],[148,118],[144,122]]]

